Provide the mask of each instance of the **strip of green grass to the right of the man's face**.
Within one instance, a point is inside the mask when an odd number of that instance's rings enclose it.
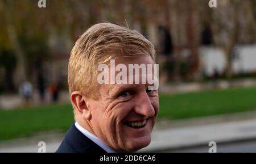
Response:
[[[256,110],[256,87],[160,95],[159,117],[185,119]]]

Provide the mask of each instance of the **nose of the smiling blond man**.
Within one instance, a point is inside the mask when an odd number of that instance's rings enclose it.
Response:
[[[152,117],[155,115],[155,109],[152,106],[146,91],[139,94],[136,101],[137,105],[134,108],[136,113],[147,117]]]

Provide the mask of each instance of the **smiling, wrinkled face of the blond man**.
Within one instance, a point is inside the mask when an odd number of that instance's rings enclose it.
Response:
[[[149,56],[118,58],[115,64],[154,64]],[[99,98],[89,99],[91,128],[113,149],[136,151],[151,141],[151,132],[159,110],[157,90],[147,84],[100,85]]]

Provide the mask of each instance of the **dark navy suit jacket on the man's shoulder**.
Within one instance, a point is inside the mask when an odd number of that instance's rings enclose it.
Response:
[[[64,140],[61,142],[56,153],[106,153],[104,149],[95,144],[92,140],[82,134],[75,126],[71,125],[65,134]]]

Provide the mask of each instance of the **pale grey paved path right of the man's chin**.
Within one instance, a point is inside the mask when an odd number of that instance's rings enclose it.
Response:
[[[198,145],[208,146],[210,141],[218,144],[256,139],[256,120],[231,121],[196,127],[171,128],[154,131],[152,142],[141,152],[175,150]]]

